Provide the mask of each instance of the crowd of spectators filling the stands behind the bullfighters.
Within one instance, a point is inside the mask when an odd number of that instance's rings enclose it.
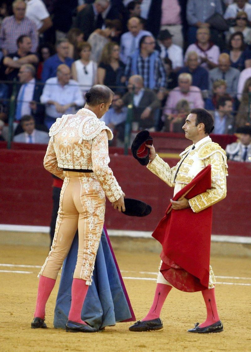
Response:
[[[115,93],[102,119],[118,146],[128,106],[133,131],[182,132],[206,108],[213,133],[250,136],[251,0],[1,2],[1,139],[12,114],[14,141],[47,143],[93,84]]]

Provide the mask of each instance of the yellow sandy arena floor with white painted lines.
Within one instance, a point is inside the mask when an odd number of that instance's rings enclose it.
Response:
[[[155,278],[159,257],[155,253],[116,251],[137,319],[151,306],[155,282],[131,279]],[[187,333],[193,323],[205,318],[200,293],[172,289],[162,310],[164,328],[156,332],[128,331],[131,323],[117,323],[104,332],[71,334],[53,328],[53,310],[59,280],[47,303],[48,329],[31,329],[37,295],[39,268],[47,255],[44,247],[2,245],[0,248],[0,351],[251,351],[251,263],[250,258],[212,257],[219,284],[218,310],[224,332]],[[15,264],[8,266],[7,264]],[[22,267],[20,265],[31,265]],[[18,271],[18,272],[15,272]],[[21,272],[20,272],[21,271]],[[22,272],[30,272],[23,274]]]

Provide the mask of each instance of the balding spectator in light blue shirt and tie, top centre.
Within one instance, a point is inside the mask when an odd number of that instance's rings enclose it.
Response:
[[[143,36],[152,34],[142,29],[141,22],[137,17],[132,17],[127,23],[128,32],[122,34],[120,40],[120,60],[126,64],[128,57],[139,49],[139,41]]]

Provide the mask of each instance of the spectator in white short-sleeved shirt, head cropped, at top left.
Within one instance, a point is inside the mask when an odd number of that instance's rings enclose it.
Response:
[[[38,33],[41,35],[52,27],[52,20],[42,0],[27,0],[25,15],[35,22]]]

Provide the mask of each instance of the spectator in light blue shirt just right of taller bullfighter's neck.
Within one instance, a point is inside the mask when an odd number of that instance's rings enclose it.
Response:
[[[123,146],[124,144],[125,121],[127,118],[127,107],[117,105],[117,101],[121,99],[121,96],[121,93],[114,93],[111,107],[101,118],[101,121],[104,121],[106,126],[111,128],[115,134],[116,146]]]

